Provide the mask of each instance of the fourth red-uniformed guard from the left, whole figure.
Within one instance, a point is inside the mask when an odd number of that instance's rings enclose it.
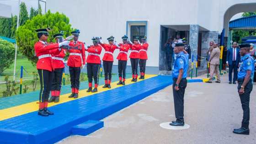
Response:
[[[99,71],[101,65],[101,45],[99,45],[99,37],[92,37],[93,45],[89,46],[87,49],[88,57],[86,59],[87,63],[87,77],[89,81],[89,88],[87,92],[97,92],[98,82],[99,82]],[[92,77],[94,79],[94,89],[92,90]]]

